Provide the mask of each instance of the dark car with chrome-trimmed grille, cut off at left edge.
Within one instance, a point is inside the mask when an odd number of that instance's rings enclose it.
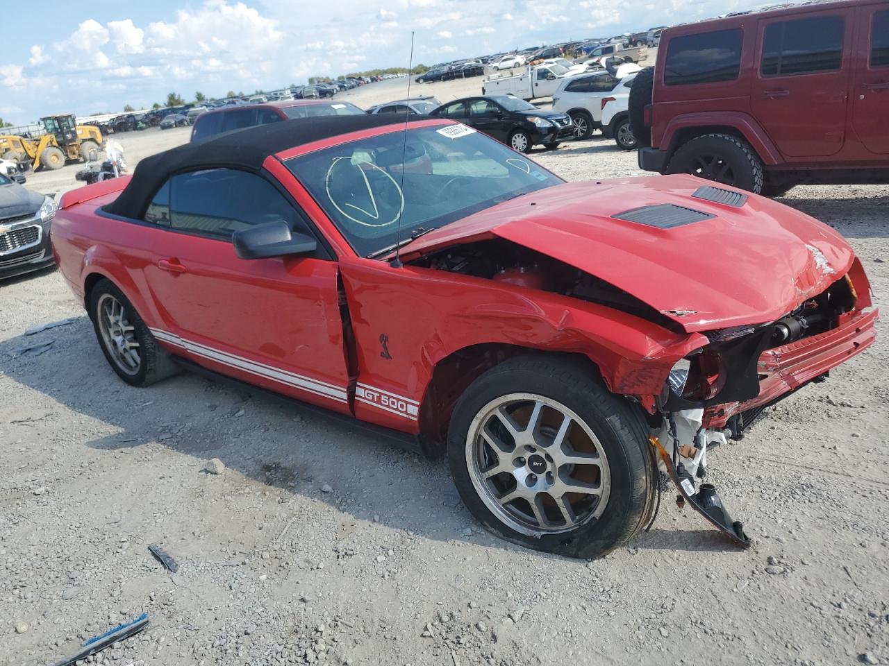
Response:
[[[50,223],[56,202],[0,174],[0,278],[52,264]]]

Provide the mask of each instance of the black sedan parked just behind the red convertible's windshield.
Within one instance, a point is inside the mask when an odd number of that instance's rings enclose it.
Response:
[[[438,115],[474,127],[489,137],[527,153],[537,144],[549,149],[573,137],[571,118],[556,111],[541,111],[510,95],[467,97],[436,108]]]

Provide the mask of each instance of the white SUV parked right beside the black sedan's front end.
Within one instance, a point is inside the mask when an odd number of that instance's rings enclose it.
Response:
[[[625,67],[631,69],[631,72],[627,72]],[[604,100],[613,98],[619,91],[629,93],[629,88],[621,88],[621,85],[630,75],[635,75],[638,69],[636,65],[628,63],[618,67],[616,74],[608,71],[592,72],[572,76],[559,85],[558,90],[553,93],[553,111],[571,116],[574,139],[589,139],[593,130],[602,127]]]

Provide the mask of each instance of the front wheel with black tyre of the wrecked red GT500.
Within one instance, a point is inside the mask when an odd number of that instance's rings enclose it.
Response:
[[[605,555],[650,519],[657,468],[643,418],[586,367],[517,357],[479,377],[448,431],[454,483],[494,534]]]

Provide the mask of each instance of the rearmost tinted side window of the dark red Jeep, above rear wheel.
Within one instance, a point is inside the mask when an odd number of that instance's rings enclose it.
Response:
[[[664,63],[666,85],[734,81],[741,73],[741,28],[674,37]]]

